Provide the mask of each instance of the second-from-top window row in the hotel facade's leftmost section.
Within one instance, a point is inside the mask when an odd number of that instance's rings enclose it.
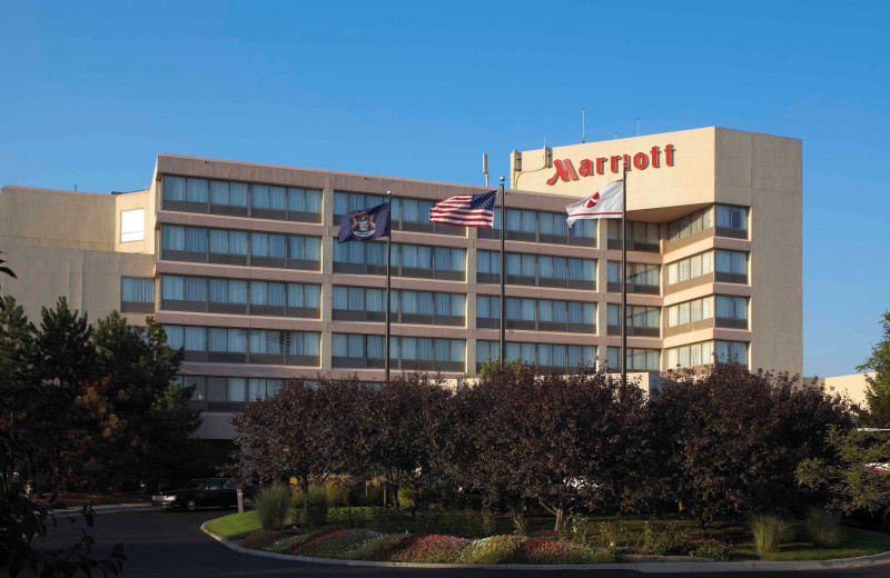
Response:
[[[360,243],[357,243],[360,245]],[[322,239],[299,235],[228,231],[165,225],[161,249],[275,259],[322,260]]]

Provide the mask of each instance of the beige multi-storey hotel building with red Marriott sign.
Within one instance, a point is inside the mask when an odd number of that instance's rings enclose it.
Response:
[[[202,437],[280,380],[383,378],[385,239],[338,243],[340,216],[393,191],[392,367],[476,375],[497,358],[506,226],[507,358],[571,370],[620,356],[621,220],[565,206],[627,160],[627,367],[734,359],[800,373],[801,142],[704,128],[514,151],[506,223],[431,225],[485,187],[157,158],[148,188],[97,195],[8,186],[4,279],[36,320],[67,296],[91,319],[154,315],[185,349]],[[498,201],[500,203],[500,201]]]

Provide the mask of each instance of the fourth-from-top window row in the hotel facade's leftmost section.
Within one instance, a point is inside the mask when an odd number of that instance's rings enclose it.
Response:
[[[322,333],[165,325],[167,345],[186,352],[318,357]]]

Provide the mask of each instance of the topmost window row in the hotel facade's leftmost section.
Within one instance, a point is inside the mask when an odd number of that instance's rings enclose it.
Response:
[[[322,213],[322,191],[269,185],[216,181],[185,177],[164,178],[165,201],[209,203],[273,211]]]

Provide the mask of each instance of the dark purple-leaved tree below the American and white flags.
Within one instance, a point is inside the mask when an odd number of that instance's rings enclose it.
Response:
[[[645,401],[635,385],[602,370],[537,376],[533,367],[517,375],[507,366],[458,397],[477,408],[465,434],[476,484],[535,500],[554,515],[556,531],[580,507],[630,505],[646,445]]]

